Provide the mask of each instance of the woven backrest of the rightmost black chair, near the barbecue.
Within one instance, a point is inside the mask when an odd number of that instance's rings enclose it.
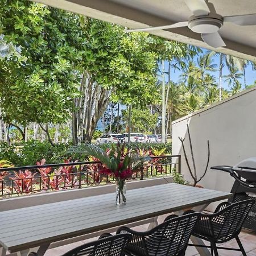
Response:
[[[214,237],[225,241],[237,236],[254,203],[254,199],[244,200],[214,213],[210,222]]]

